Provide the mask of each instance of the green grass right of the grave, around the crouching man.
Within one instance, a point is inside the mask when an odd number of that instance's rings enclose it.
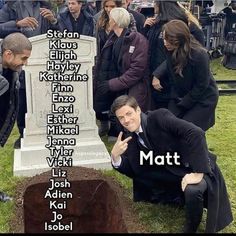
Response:
[[[216,80],[236,80],[236,71],[228,70],[216,59],[211,62],[211,70]],[[223,86],[221,86],[223,87]],[[225,87],[227,88],[227,87]],[[236,87],[235,87],[236,88]],[[231,201],[234,219],[236,219],[236,94],[234,96],[220,96],[216,110],[216,124],[207,134],[209,149],[218,156],[217,163],[224,175],[228,194]],[[103,139],[111,150],[106,138]],[[127,189],[127,195],[132,199],[132,182],[116,171],[106,171],[107,175],[113,175],[117,181]],[[180,233],[184,222],[183,209],[154,205],[147,203],[135,203],[135,209],[140,221],[148,225],[149,232],[156,233]],[[206,212],[204,212],[199,232],[204,232]],[[222,233],[236,233],[236,222],[221,231]]]

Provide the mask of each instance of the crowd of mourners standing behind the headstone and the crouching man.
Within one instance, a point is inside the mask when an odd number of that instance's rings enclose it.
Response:
[[[13,32],[32,37],[48,29],[96,37],[94,110],[99,135],[108,134],[109,140],[119,133],[110,106],[123,94],[134,96],[144,112],[164,107],[205,131],[212,127],[218,90],[197,18],[178,1],[155,0],[152,17],[131,10],[131,0],[99,3],[98,8],[93,0],[2,0],[0,38]],[[24,71],[20,82],[20,137],[15,148],[25,127]]]

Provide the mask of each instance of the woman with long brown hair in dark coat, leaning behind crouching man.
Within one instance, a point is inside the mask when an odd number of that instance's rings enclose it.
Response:
[[[161,90],[159,78],[171,84],[168,109],[177,117],[208,130],[215,123],[218,89],[210,72],[209,55],[181,20],[163,27],[167,59],[154,72],[154,89]]]

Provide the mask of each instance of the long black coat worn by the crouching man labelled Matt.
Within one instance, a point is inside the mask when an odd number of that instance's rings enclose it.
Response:
[[[115,169],[133,180],[146,178],[148,181],[159,181],[162,184],[171,182],[172,188],[176,187],[186,173],[204,173],[208,186],[206,232],[216,232],[226,227],[233,219],[231,207],[224,178],[216,164],[216,156],[208,151],[204,131],[192,123],[176,118],[167,109],[152,111],[148,115],[142,114],[141,120],[143,132],[149,141],[149,150],[153,150],[154,156],[177,152],[181,166],[140,166],[139,156],[142,148],[137,135],[132,133],[129,134],[132,139],[122,155],[121,165]],[[164,172],[168,179],[162,178],[161,173]],[[146,194],[146,190],[135,188],[134,185],[136,196],[137,192]]]

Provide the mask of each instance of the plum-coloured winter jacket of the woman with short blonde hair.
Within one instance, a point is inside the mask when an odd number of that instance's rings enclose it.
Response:
[[[127,30],[119,50],[117,68],[120,76],[109,80],[111,91],[127,91],[136,98],[142,111],[149,106],[148,42],[138,33]]]

